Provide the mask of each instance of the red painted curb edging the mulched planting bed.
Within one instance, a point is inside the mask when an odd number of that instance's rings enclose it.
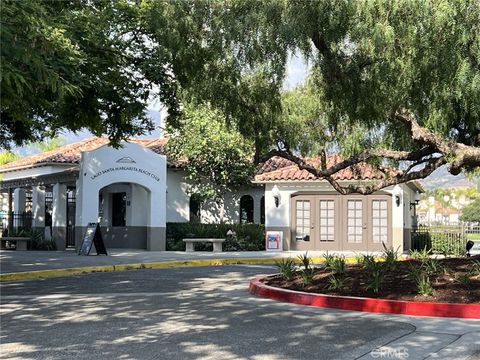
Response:
[[[479,304],[415,302],[312,294],[265,285],[263,276],[257,276],[250,280],[249,291],[253,295],[272,300],[316,307],[415,316],[480,319]]]

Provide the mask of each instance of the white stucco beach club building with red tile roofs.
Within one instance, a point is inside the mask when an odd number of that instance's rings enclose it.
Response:
[[[408,249],[417,183],[373,195],[342,196],[323,179],[272,158],[223,206],[199,204],[187,192],[181,165],[164,155],[165,139],[122,143],[90,138],[0,166],[0,204],[10,224],[31,221],[57,249],[77,247],[90,222],[99,222],[107,248],[165,250],[169,222],[264,223],[283,249]],[[337,161],[332,157],[330,161]],[[343,182],[378,181],[363,164],[342,170]],[[30,217],[22,214],[31,214]],[[26,225],[26,224],[23,224]]]

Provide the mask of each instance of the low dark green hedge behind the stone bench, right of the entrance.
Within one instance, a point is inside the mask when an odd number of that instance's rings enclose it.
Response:
[[[227,236],[232,230],[235,235]],[[261,251],[265,250],[265,226],[258,224],[200,224],[167,223],[167,250],[185,251],[187,238],[223,238],[224,251]],[[197,251],[209,251],[210,243],[195,244]]]

